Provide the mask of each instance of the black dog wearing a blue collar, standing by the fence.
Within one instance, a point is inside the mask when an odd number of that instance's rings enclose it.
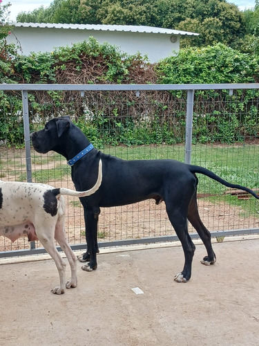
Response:
[[[45,128],[34,132],[31,138],[37,152],[46,154],[54,150],[69,160],[76,190],[88,190],[94,185],[98,163],[102,158],[102,185],[95,194],[80,198],[84,206],[87,243],[87,251],[81,257],[81,262],[90,261],[82,266],[86,271],[97,268],[97,222],[100,207],[122,206],[145,199],[155,199],[157,204],[164,201],[171,224],[182,243],[185,257],[182,273],[175,275],[175,281],[186,282],[191,277],[191,263],[195,251],[195,245],[187,230],[186,219],[189,219],[197,230],[207,249],[208,255],[204,257],[202,264],[215,263],[211,234],[202,224],[198,213],[196,197],[198,178],[195,173],[209,176],[229,188],[247,191],[259,199],[252,190],[228,183],[203,167],[186,165],[174,160],[124,161],[103,154],[93,148],[88,138],[69,117],[48,121]]]

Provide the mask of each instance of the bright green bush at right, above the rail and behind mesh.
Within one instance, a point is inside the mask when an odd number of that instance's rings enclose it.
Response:
[[[223,44],[185,48],[157,66],[163,84],[228,84],[259,80],[259,57],[240,53]],[[181,98],[183,91],[172,92]],[[195,141],[234,142],[258,136],[258,108],[253,105],[255,90],[197,91],[194,106]],[[211,102],[213,100],[213,102]],[[257,123],[257,125],[256,125]]]

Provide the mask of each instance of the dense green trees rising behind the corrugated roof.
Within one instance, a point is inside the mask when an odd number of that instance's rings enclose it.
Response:
[[[226,0],[54,0],[19,21],[158,26],[200,33],[195,44],[231,44],[244,36],[244,14]],[[193,29],[191,29],[193,28]],[[188,39],[184,40],[190,44]],[[193,40],[191,41],[193,43]]]

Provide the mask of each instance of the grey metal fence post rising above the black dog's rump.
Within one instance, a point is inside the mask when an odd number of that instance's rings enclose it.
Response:
[[[186,106],[184,162],[189,164],[191,163],[191,142],[193,138],[193,98],[194,90],[188,90]]]

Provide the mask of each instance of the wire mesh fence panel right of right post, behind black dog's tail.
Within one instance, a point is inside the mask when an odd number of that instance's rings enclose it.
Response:
[[[258,105],[258,95],[251,91],[196,92],[192,163],[258,191]],[[200,215],[209,230],[258,228],[256,199],[205,176],[199,178]]]

